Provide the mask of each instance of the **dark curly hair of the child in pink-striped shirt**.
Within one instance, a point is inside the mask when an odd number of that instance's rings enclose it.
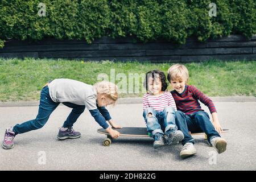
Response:
[[[159,76],[160,81],[162,82],[162,91],[166,91],[168,83],[166,81],[166,75],[164,74],[164,72],[158,70],[158,69],[154,69],[152,71],[149,71],[146,73],[146,78],[144,80],[144,87],[146,88],[146,90],[148,90],[148,78],[152,77],[155,80],[155,77]],[[158,78],[158,77],[156,77]]]

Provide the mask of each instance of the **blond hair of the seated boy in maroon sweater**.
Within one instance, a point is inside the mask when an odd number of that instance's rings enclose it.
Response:
[[[169,82],[177,80],[188,82],[188,69],[183,64],[174,64],[167,71],[167,79]]]

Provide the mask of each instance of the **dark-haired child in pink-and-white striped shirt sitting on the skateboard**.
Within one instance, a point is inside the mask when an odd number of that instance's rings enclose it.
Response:
[[[166,91],[166,76],[159,70],[147,72],[144,86],[147,93],[143,96],[143,117],[148,133],[155,139],[153,147],[179,143],[184,135],[175,124],[177,109],[172,94]]]

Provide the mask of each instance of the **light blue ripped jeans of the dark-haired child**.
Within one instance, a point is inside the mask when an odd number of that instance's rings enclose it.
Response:
[[[152,114],[151,117],[148,117],[149,113]],[[152,137],[154,137],[156,133],[164,134],[177,131],[174,107],[164,107],[163,111],[156,111],[152,107],[148,107],[144,109],[143,117],[147,123],[147,131]]]

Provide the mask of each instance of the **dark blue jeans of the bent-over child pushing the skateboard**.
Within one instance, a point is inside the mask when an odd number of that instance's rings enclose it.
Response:
[[[44,86],[41,90],[40,105],[38,115],[35,119],[24,122],[22,124],[15,125],[13,131],[15,134],[26,133],[31,130],[37,130],[42,128],[49,119],[49,116],[56,109],[60,102],[53,102],[49,96],[48,86]],[[72,104],[71,102],[63,102],[65,106],[73,108],[69,114],[67,120],[64,122],[63,127],[72,127],[77,118],[84,112],[85,106]]]

